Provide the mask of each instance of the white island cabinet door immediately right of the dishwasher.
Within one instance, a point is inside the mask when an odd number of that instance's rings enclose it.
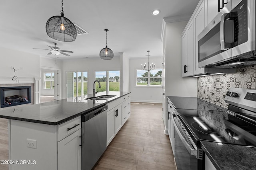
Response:
[[[107,121],[107,146],[110,144],[112,139],[115,136],[115,118],[116,117],[116,109],[113,108],[108,111],[108,121]]]

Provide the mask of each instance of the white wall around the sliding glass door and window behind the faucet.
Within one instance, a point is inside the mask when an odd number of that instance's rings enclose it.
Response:
[[[76,59],[62,61],[62,98],[66,98],[66,73],[74,71],[88,72],[88,94],[92,94],[95,71],[120,70],[120,57],[114,56],[112,60],[96,59]],[[120,82],[121,83],[121,82]],[[120,84],[121,86],[121,84]]]

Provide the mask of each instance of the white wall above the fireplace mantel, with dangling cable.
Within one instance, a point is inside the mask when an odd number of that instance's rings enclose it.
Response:
[[[13,49],[6,49],[0,47],[0,78],[14,76],[14,70],[16,70],[16,76],[18,78],[29,77],[38,78],[40,77],[39,69],[39,56],[30,53],[24,53]]]

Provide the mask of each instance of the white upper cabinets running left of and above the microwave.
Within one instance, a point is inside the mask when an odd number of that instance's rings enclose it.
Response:
[[[210,23],[219,10],[230,0],[200,0],[182,38],[182,77],[206,73],[206,68],[198,68],[198,35]]]

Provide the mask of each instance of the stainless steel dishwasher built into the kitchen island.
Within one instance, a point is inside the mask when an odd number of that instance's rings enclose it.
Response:
[[[107,109],[82,115],[82,170],[91,170],[107,147]]]

